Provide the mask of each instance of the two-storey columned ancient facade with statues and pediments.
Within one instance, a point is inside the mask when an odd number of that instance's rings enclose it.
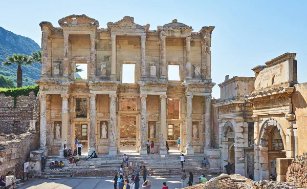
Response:
[[[41,150],[62,155],[64,144],[74,148],[77,125],[86,125],[82,133],[90,153],[117,154],[127,139],[122,132],[131,131],[128,139],[135,142],[137,152],[147,154],[149,138],[165,155],[165,142],[176,134],[181,137],[182,152],[205,152],[212,166],[219,164],[219,151],[211,142],[216,135],[211,123],[214,27],[192,32],[192,27],[174,19],[149,30],[149,24],[141,26],[125,16],[103,29],[86,15],[61,18],[59,25],[40,23]],[[87,66],[85,79],[75,78],[77,64]],[[135,67],[134,83],[123,82],[128,64]],[[169,66],[178,67],[179,80],[169,79]],[[85,118],[76,117],[77,98],[88,101]]]

